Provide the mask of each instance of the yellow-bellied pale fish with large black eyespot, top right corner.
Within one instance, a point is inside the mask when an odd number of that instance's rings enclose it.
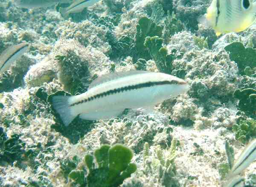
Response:
[[[199,17],[201,24],[212,27],[216,35],[240,32],[256,20],[256,2],[253,0],[212,0],[207,14]]]

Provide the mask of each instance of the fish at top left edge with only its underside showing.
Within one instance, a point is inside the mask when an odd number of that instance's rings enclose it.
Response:
[[[22,8],[40,8],[52,6],[57,3],[69,3],[72,0],[14,0],[14,3]]]

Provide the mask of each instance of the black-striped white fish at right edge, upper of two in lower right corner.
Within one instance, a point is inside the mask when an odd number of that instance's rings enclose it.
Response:
[[[233,165],[228,178],[238,175],[256,159],[256,139],[248,144]]]

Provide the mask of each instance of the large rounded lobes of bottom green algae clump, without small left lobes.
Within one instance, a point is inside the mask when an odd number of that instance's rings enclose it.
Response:
[[[137,170],[136,165],[130,163],[133,157],[132,150],[122,144],[115,144],[112,147],[103,145],[95,150],[94,156],[98,168],[92,168],[91,162],[86,162],[90,170],[87,176],[88,187],[118,187],[125,178]]]

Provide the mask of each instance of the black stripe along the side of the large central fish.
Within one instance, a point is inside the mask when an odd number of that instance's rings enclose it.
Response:
[[[79,102],[75,102],[75,103],[71,104],[70,107],[79,105],[84,102],[92,101],[93,99],[97,99],[100,97],[108,96],[111,94],[117,94],[119,92],[137,90],[140,88],[148,88],[148,87],[155,86],[155,85],[170,85],[170,84],[177,85],[177,84],[185,84],[185,83],[179,82],[176,80],[172,80],[172,81],[159,81],[159,82],[145,82],[145,83],[141,83],[141,84],[137,84],[137,85],[130,85],[130,86],[125,86],[125,87],[121,87],[121,88],[115,88],[113,90],[109,90],[109,91],[102,92],[100,94],[96,94],[95,96],[91,96],[87,99],[83,99]]]

